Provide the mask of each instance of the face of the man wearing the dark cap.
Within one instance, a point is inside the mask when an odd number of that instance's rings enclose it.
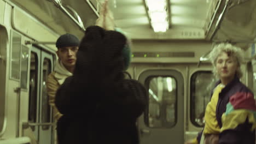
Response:
[[[75,61],[77,61],[77,51],[78,46],[68,46],[60,47],[56,53],[63,65],[66,67],[74,67]]]

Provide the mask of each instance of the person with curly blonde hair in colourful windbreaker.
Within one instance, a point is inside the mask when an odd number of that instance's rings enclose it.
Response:
[[[243,51],[219,44],[210,53],[213,73],[219,78],[206,106],[205,127],[197,139],[187,143],[254,144],[255,100],[240,82]]]

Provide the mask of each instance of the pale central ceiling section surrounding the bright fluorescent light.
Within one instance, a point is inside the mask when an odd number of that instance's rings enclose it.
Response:
[[[169,28],[155,33],[150,23],[148,0],[110,0],[115,23],[132,39],[205,39],[207,10],[210,2],[202,0],[166,0]],[[158,5],[159,1],[150,1]],[[200,7],[199,7],[200,5]]]

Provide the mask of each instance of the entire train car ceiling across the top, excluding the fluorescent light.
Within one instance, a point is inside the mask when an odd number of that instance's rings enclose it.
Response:
[[[76,21],[84,28],[94,25],[103,0],[11,0],[18,3],[58,34],[66,32],[83,37]],[[208,41],[252,41],[256,36],[254,0],[163,0],[169,28],[155,33],[150,23],[150,0],[109,0],[117,27],[131,39],[200,39]],[[158,4],[159,1],[150,1]],[[63,10],[63,8],[65,10]],[[75,13],[73,13],[73,10]],[[66,11],[66,12],[65,12]],[[72,17],[67,16],[68,14]],[[75,20],[74,20],[75,19]]]

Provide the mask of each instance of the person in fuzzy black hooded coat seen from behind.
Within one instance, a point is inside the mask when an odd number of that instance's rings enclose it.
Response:
[[[56,93],[63,114],[57,123],[59,144],[139,143],[136,119],[146,108],[148,92],[124,78],[131,55],[127,41],[117,31],[86,29],[73,76]]]

